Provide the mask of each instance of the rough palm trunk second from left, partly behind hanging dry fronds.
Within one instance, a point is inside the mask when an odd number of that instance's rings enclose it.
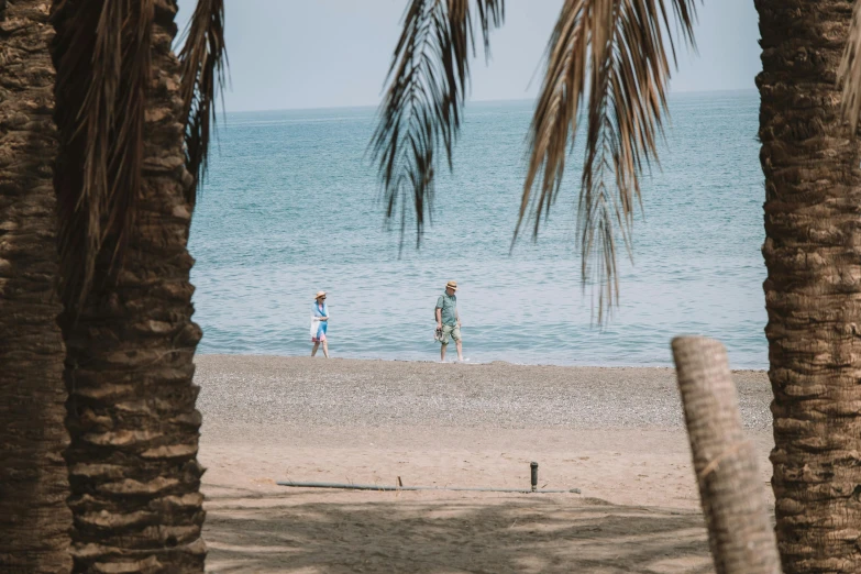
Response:
[[[202,572],[206,555],[192,384],[201,332],[191,321],[190,207],[184,199],[191,177],[184,167],[178,62],[170,52],[176,4],[156,5],[135,230],[118,274],[109,272],[117,238],[107,239],[80,314],[60,320],[68,350],[75,572]],[[60,34],[69,13],[57,13]],[[59,56],[55,49],[55,63]],[[64,142],[74,129],[67,97],[57,93]],[[62,145],[57,178],[80,179],[79,155],[78,146]]]

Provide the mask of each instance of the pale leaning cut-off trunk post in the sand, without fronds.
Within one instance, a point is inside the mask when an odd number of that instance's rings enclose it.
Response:
[[[746,440],[727,352],[702,336],[673,339],[678,390],[717,574],[780,574],[753,444]]]

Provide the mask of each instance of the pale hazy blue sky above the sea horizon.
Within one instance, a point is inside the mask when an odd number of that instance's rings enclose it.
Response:
[[[196,0],[178,0],[180,30]],[[699,2],[697,2],[699,3]],[[407,0],[225,0],[227,111],[377,106]],[[507,0],[492,59],[471,65],[473,101],[533,98],[562,0]],[[682,48],[671,90],[754,89],[761,69],[751,0],[705,0],[698,54]]]

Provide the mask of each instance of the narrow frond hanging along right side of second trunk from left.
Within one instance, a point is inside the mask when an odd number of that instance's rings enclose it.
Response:
[[[183,117],[186,121],[186,167],[195,177],[186,191],[194,206],[206,175],[211,129],[216,124],[217,96],[224,91],[228,54],[224,47],[224,0],[198,0],[179,53]]]

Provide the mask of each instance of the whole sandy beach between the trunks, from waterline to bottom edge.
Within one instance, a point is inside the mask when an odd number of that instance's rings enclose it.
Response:
[[[713,572],[671,369],[197,365],[211,572]],[[768,377],[735,378],[766,483]],[[531,461],[539,487],[582,494],[275,484],[528,488]]]

